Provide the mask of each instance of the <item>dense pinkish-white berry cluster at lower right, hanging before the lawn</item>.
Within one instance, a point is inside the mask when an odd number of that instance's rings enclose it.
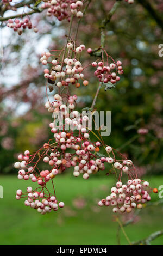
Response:
[[[149,186],[148,181],[141,179],[129,179],[126,184],[121,181],[116,183],[116,187],[111,188],[111,194],[98,202],[99,206],[113,206],[112,211],[131,212],[132,209],[141,209],[142,204],[151,200],[146,188]]]

